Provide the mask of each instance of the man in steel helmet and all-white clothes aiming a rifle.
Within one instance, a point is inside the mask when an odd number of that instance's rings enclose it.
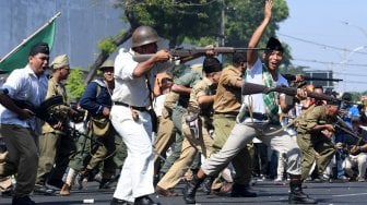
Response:
[[[132,48],[120,50],[115,59],[115,89],[110,119],[128,148],[114,198],[110,204],[155,205],[149,194],[153,186],[153,142],[151,93],[155,75],[171,69],[170,55],[157,50],[158,35],[150,26],[140,26],[132,34]],[[144,62],[134,55],[154,53]]]

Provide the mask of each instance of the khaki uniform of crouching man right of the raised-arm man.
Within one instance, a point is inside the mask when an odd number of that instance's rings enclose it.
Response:
[[[301,150],[301,180],[309,176],[309,171],[316,160],[318,173],[322,176],[324,169],[334,156],[335,146],[330,138],[322,133],[310,133],[310,130],[318,124],[332,123],[332,119],[327,116],[324,106],[316,106],[307,110],[299,120],[297,126],[297,143]]]

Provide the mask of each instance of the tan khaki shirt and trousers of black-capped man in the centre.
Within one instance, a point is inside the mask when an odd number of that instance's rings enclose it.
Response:
[[[198,82],[190,94],[188,111],[182,116],[182,148],[179,158],[170,167],[168,172],[158,182],[158,186],[165,190],[175,188],[180,181],[181,177],[189,169],[190,165],[194,160],[194,156],[198,152],[201,152],[204,157],[209,157],[212,153],[213,140],[210,136],[209,131],[213,130],[211,112],[211,106],[202,109],[199,107],[198,97],[210,96],[215,93],[215,89],[211,87],[212,82],[204,79]],[[198,118],[198,138],[194,136],[189,125],[186,122],[188,114],[199,114]]]

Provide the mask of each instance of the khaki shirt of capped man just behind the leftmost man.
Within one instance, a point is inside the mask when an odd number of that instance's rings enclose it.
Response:
[[[67,97],[67,89],[63,84],[56,82],[54,77],[48,80],[48,89],[46,94],[46,99],[54,97],[54,96],[62,96],[62,100],[64,104],[69,105],[68,97]],[[56,106],[52,109],[58,109],[58,110],[67,110],[69,109],[68,106]],[[43,125],[43,133],[49,133],[49,132],[55,132],[55,130],[48,124],[45,123]]]

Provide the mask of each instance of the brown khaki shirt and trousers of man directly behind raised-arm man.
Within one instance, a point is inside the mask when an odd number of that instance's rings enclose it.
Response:
[[[241,106],[241,88],[236,87],[236,82],[242,80],[242,73],[233,65],[222,71],[222,76],[214,98],[214,152],[222,149],[235,123],[236,116]],[[234,182],[248,185],[251,180],[251,153],[252,145],[248,144],[234,157],[232,164],[236,170]],[[217,182],[212,189],[217,189]]]

